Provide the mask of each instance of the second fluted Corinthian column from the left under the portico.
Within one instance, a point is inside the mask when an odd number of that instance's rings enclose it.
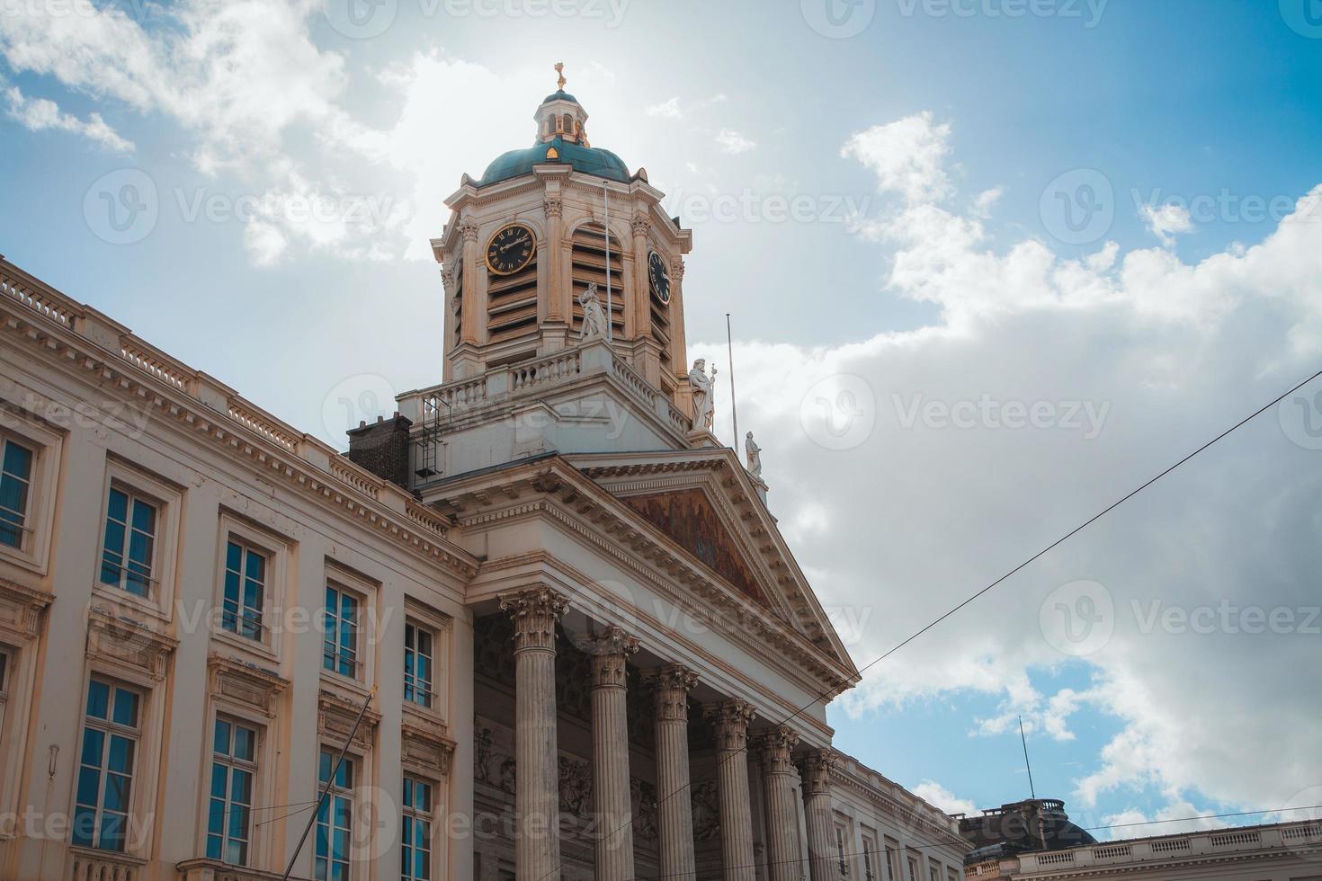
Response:
[[[629,729],[625,716],[625,659],[639,641],[607,627],[592,654],[592,799],[596,808],[596,881],[633,878],[629,802]]]

